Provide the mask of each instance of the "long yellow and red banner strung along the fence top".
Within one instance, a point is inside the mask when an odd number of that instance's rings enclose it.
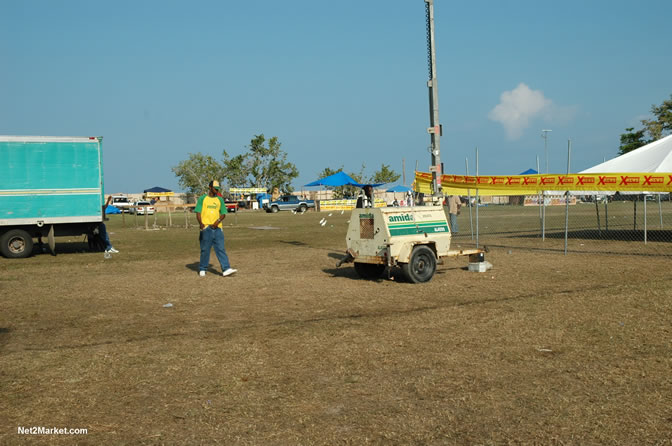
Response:
[[[672,173],[548,175],[441,175],[444,193],[478,189],[481,195],[528,195],[541,191],[672,192]],[[415,173],[415,190],[432,192],[432,174]]]

